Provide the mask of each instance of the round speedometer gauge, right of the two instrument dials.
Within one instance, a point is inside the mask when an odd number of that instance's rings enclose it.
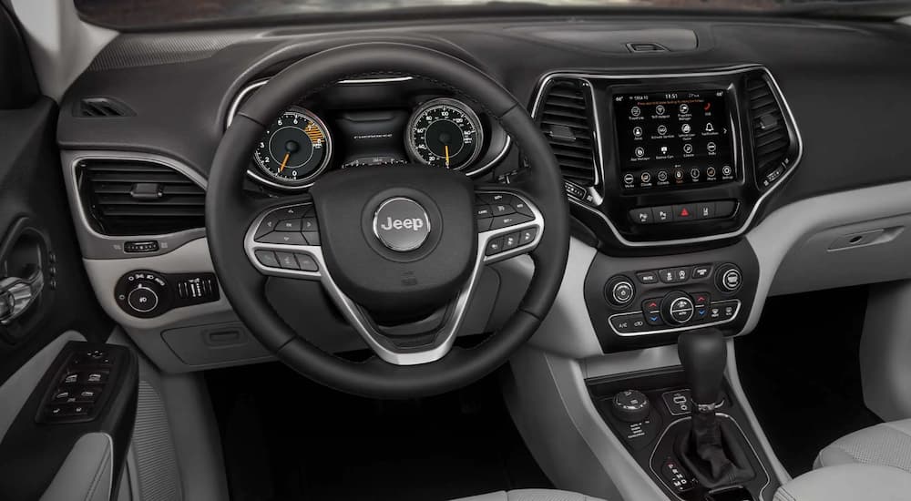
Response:
[[[484,130],[465,103],[446,97],[427,101],[408,120],[408,151],[421,163],[462,169],[481,153]]]

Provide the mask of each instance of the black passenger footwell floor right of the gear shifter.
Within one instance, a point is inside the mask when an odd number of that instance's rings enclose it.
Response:
[[[744,391],[788,473],[820,449],[880,423],[864,405],[860,335],[865,287],[770,298],[756,330],[735,342]],[[833,305],[849,308],[829,314]]]

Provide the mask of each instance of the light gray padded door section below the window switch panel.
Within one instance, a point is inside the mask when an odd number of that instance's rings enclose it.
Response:
[[[114,475],[110,435],[82,435],[40,501],[109,501]]]

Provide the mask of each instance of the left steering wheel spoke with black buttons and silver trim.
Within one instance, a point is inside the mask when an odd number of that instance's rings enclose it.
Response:
[[[263,210],[247,230],[244,247],[263,275],[322,280],[325,261],[310,201]]]

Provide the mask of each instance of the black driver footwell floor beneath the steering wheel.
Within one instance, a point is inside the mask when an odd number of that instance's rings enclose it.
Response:
[[[551,486],[493,378],[394,402],[323,388],[278,363],[207,379],[233,501],[442,501]]]

